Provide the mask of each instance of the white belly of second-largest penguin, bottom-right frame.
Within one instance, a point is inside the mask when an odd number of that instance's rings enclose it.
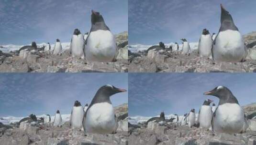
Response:
[[[200,108],[200,117],[199,117],[199,123],[200,128],[209,129],[211,128],[211,106],[202,105]]]

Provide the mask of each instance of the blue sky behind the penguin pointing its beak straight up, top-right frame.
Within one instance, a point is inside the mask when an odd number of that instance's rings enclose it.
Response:
[[[196,42],[204,28],[217,33],[220,3],[242,34],[256,31],[256,0],[129,0],[129,44]]]

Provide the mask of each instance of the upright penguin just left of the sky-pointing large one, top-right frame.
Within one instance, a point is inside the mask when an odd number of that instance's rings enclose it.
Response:
[[[212,47],[211,34],[207,29],[203,29],[199,39],[199,44],[198,44],[199,56],[211,58],[211,47]]]

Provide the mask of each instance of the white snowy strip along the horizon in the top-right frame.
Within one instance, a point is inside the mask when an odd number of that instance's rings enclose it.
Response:
[[[166,43],[165,46],[166,48],[169,48],[171,45],[173,45],[174,43],[171,42],[171,43]],[[159,44],[155,44],[155,45],[159,45]],[[198,49],[198,42],[190,42],[189,43],[190,45],[190,48],[191,50],[196,50]],[[149,47],[151,47],[153,45],[143,45],[143,44],[135,44],[135,45],[129,45],[128,46],[128,49],[131,51],[131,52],[138,52],[138,51],[144,51],[144,50],[147,50]],[[182,48],[182,44],[179,44],[179,50],[181,50]],[[173,49],[173,51],[177,51],[175,49]]]

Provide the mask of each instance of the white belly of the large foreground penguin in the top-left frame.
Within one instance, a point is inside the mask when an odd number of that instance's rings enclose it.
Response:
[[[111,62],[117,51],[115,37],[111,31],[90,32],[85,50],[88,61]]]

